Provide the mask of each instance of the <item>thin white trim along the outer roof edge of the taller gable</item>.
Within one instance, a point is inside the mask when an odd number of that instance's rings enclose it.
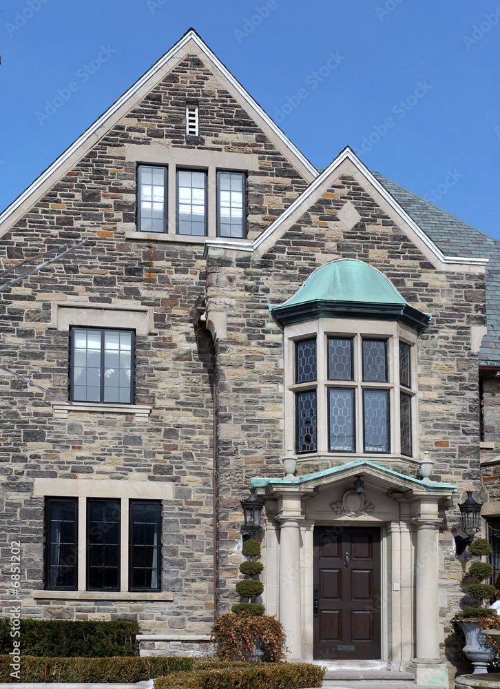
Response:
[[[176,52],[178,52],[181,48],[184,48],[186,43],[189,43],[189,41],[194,41],[196,45],[198,45],[198,48],[200,48],[200,50],[207,56],[207,58],[225,76],[227,81],[231,83],[233,88],[235,88],[238,91],[242,98],[244,98],[244,100],[247,101],[249,106],[253,108],[253,110],[256,110],[258,115],[262,117],[264,122],[269,126],[271,130],[273,130],[276,136],[278,136],[281,139],[284,145],[287,146],[287,148],[291,150],[293,155],[300,160],[302,165],[304,165],[304,167],[306,167],[306,169],[308,169],[309,172],[311,172],[311,175],[313,175],[313,177],[316,177],[318,172],[317,169],[313,167],[312,163],[310,163],[307,160],[304,154],[302,154],[298,150],[298,148],[290,141],[290,139],[284,134],[284,132],[280,130],[280,127],[278,127],[278,125],[276,125],[271,120],[269,115],[266,112],[264,112],[264,110],[262,110],[262,107],[260,107],[260,105],[258,105],[258,103],[253,100],[251,95],[242,87],[242,85],[237,81],[237,79],[235,79],[231,72],[229,72],[229,70],[222,64],[222,62],[220,62],[216,55],[213,54],[213,52],[211,52],[207,44],[204,41],[202,41],[202,39],[198,36],[196,31],[194,31],[194,29],[190,29],[186,34],[184,34],[180,41],[173,45],[172,48],[170,48],[170,50],[165,53],[165,55],[160,57],[160,59],[156,63],[154,63],[152,68],[150,68],[145,74],[143,74],[143,76],[141,76],[140,79],[138,79],[138,81],[136,81],[136,83],[134,83],[134,85],[132,85],[129,88],[129,90],[127,90],[123,94],[123,96],[120,96],[120,98],[117,101],[115,101],[113,105],[111,105],[98,119],[96,119],[96,121],[92,125],[90,125],[90,127],[88,127],[88,129],[85,130],[85,132],[83,132],[83,134],[81,134],[81,136],[79,136],[79,138],[77,138],[76,141],[74,141],[74,143],[72,143],[72,145],[70,145],[70,147],[68,147],[65,150],[65,152],[63,152],[63,154],[59,156],[59,158],[56,158],[56,160],[54,161],[54,163],[52,163],[52,165],[50,165],[50,167],[48,167],[44,172],[42,172],[42,174],[39,177],[37,177],[37,179],[34,182],[32,182],[32,184],[30,184],[30,186],[27,189],[25,189],[25,191],[22,192],[22,194],[20,194],[10,204],[3,211],[3,213],[0,214],[0,225],[5,220],[7,220],[7,218],[25,202],[25,200],[27,200],[34,192],[36,192],[37,189],[45,181],[47,181],[51,176],[53,176],[57,169],[59,169],[59,167],[61,167],[61,165],[63,165],[63,163],[65,163],[65,161],[67,161],[67,159],[70,158],[70,156],[72,156],[72,154],[74,154],[79,149],[79,147],[81,147],[81,145],[83,145],[85,141],[87,141],[92,136],[92,134],[94,134],[100,127],[103,126],[107,119],[110,119],[110,117],[120,107],[122,107],[122,105],[124,105],[128,99],[134,96],[134,94],[145,83],[147,83],[149,79],[152,79],[156,72],[161,70],[161,68],[163,68],[163,66],[175,56]]]

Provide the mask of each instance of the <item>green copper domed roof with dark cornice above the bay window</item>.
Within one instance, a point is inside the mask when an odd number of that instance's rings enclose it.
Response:
[[[326,263],[281,306],[270,306],[278,322],[311,318],[378,318],[399,320],[416,329],[430,316],[410,307],[390,281],[360,260],[343,258]]]

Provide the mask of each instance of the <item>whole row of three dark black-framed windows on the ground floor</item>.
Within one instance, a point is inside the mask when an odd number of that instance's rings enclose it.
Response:
[[[123,500],[87,498],[86,515],[79,515],[78,503],[76,497],[48,497],[45,501],[46,588],[121,590],[123,553],[128,552],[128,590],[159,591],[161,502],[127,500],[128,551],[121,543]],[[79,582],[79,520],[85,519],[85,548],[80,556],[86,575],[85,582]]]

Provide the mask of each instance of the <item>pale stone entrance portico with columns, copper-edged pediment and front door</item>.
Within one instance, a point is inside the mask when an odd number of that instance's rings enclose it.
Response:
[[[353,489],[357,476],[362,494]],[[373,667],[445,684],[439,511],[456,486],[366,460],[252,485],[266,500],[264,602],[284,625],[291,659],[354,666],[369,648],[362,659]]]

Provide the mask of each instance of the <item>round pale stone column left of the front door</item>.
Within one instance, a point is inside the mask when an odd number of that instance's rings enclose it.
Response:
[[[302,657],[300,600],[300,522],[293,517],[280,521],[280,622],[284,626],[289,660]]]

